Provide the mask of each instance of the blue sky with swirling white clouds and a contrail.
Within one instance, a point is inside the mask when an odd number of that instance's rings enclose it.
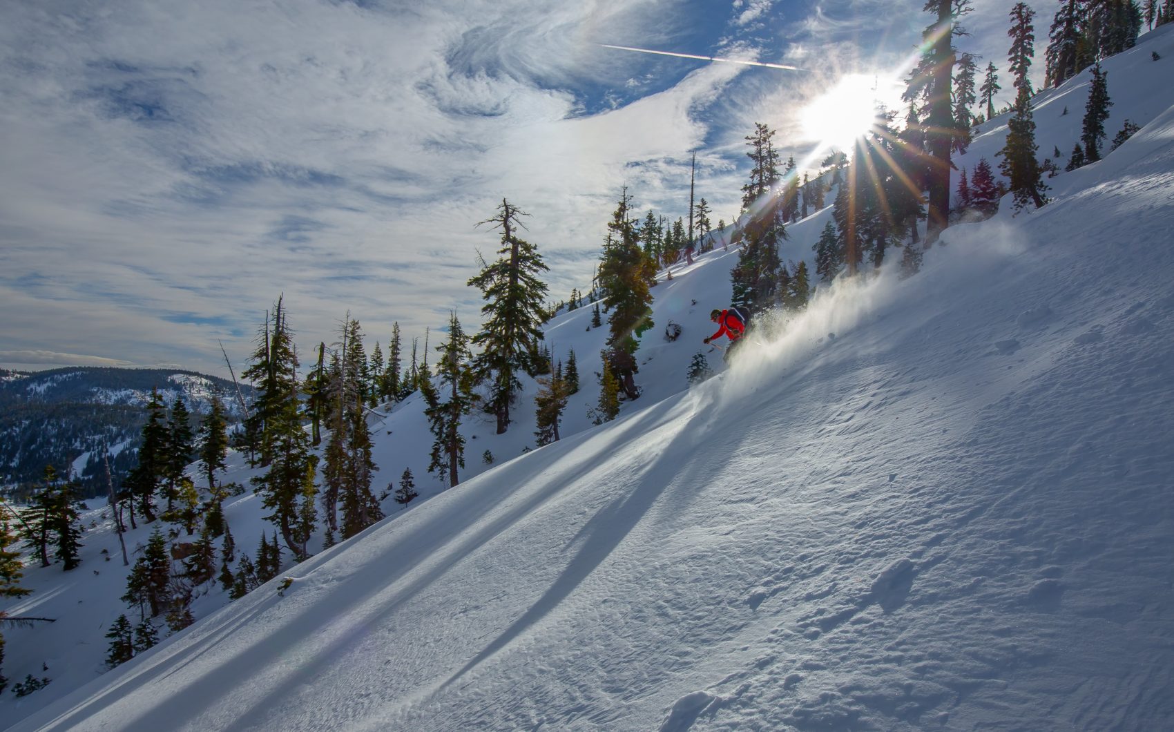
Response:
[[[1004,69],[1012,4],[977,5],[958,46]],[[920,0],[6,2],[0,364],[221,373],[282,293],[305,358],[348,311],[369,348],[450,310],[472,330],[502,197],[565,299],[622,185],[686,215],[696,148],[730,221],[754,123],[802,158],[804,103],[903,74],[927,22]]]

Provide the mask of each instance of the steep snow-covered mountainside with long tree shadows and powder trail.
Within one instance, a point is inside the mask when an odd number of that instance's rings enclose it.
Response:
[[[59,622],[6,631],[6,675],[43,662],[54,682],[0,714],[14,730],[1174,727],[1174,94],[1154,83],[1172,30],[1106,62],[1106,129],[1145,127],[1051,178],[1045,208],[1005,199],[916,277],[821,289],[687,388],[729,298],[736,255],[718,248],[654,290],[645,394],[600,427],[586,404],[605,330],[588,309],[560,316],[548,341],[583,374],[571,436],[520,455],[526,409],[506,435],[473,418],[468,474],[440,492],[419,404],[397,406],[379,480],[411,467],[429,500],[228,606],[210,592],[195,625],[61,698],[96,675],[123,611],[126,570],[99,554],[117,542],[96,527],[80,569],[31,569],[36,591],[2,605]],[[1070,116],[1080,83],[1048,93]],[[1065,149],[1037,123],[1041,149]],[[810,263],[829,215],[791,226],[784,259]],[[237,459],[228,477],[247,476]],[[228,508],[238,545],[257,503]]]

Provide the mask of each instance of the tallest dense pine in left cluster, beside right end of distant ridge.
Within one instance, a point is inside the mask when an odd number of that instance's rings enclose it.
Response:
[[[310,436],[302,429],[298,399],[297,350],[286,323],[282,300],[274,309],[272,328],[254,354],[245,377],[257,384],[254,419],[261,420],[258,452],[269,469],[251,479],[269,510],[266,521],[281,530],[285,545],[296,557],[306,556],[306,542],[313,530],[313,476],[317,458],[310,454]]]

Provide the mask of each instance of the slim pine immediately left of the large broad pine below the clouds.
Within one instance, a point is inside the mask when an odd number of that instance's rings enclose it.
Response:
[[[448,339],[437,347],[441,352],[437,367],[440,393],[429,386],[425,392],[427,407],[424,409],[436,440],[432,443],[432,462],[429,473],[438,473],[440,480],[453,488],[460,482],[459,468],[465,467],[465,438],[460,434],[460,420],[473,408],[473,377],[468,366],[468,338],[460,327],[456,313],[448,313]],[[447,399],[440,401],[441,394]]]

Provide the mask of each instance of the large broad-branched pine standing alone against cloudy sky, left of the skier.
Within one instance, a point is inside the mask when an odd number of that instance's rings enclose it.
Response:
[[[483,262],[480,274],[468,280],[486,300],[481,331],[472,343],[481,347],[475,367],[490,379],[486,408],[497,416],[498,434],[510,428],[510,406],[521,388],[517,373],[535,373],[533,344],[542,339],[546,320],[546,284],[539,276],[549,267],[533,244],[517,236],[519,228],[525,229],[522,216],[528,214],[502,198],[497,215],[481,222],[501,230],[501,258],[493,264]]]

